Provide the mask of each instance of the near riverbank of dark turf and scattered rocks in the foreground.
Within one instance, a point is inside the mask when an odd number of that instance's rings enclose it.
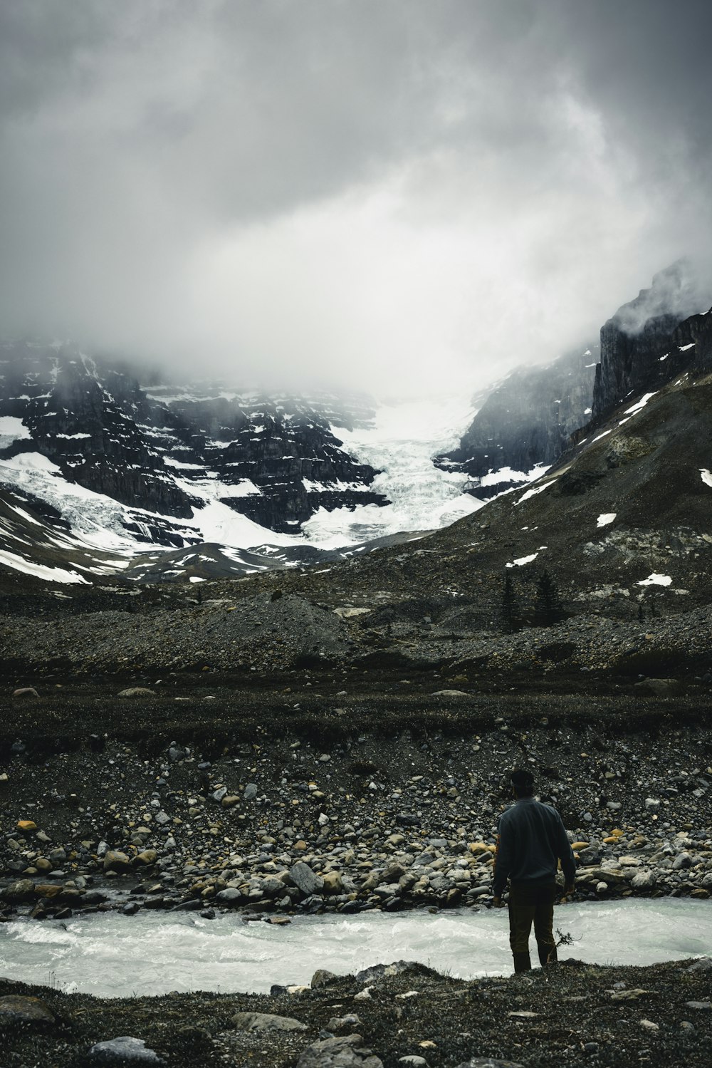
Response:
[[[477,1057],[509,1068],[707,1068],[711,967],[709,958],[651,968],[572,960],[468,983],[421,965],[381,965],[359,976],[317,973],[311,987],[274,996],[109,1001],[0,979],[0,1043],[3,1063],[18,1068],[116,1063],[101,1043],[120,1036],[133,1043],[114,1050],[132,1048],[143,1057],[128,1064],[171,1068],[456,1068]]]

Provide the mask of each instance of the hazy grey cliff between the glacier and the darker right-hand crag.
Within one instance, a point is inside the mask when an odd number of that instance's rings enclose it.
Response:
[[[468,491],[481,499],[525,481],[537,466],[549,467],[590,415],[597,360],[591,343],[545,367],[513,371],[438,465],[465,471]]]

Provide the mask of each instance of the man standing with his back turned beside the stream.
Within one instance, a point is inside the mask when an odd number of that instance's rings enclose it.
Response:
[[[509,944],[515,973],[532,969],[529,931],[534,933],[543,968],[556,960],[552,931],[557,861],[561,862],[565,894],[573,893],[575,862],[561,817],[534,798],[531,771],[513,771],[511,785],[516,802],[500,817],[492,893],[496,908],[507,879],[509,885]]]

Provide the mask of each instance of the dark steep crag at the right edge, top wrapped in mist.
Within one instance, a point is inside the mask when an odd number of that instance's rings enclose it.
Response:
[[[650,289],[642,289],[604,324],[594,419],[604,418],[627,397],[660,389],[691,366],[710,363],[712,319],[691,315],[702,300],[689,265],[681,262],[655,274]]]

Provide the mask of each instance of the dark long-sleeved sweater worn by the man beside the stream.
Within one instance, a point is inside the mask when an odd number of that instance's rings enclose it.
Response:
[[[501,897],[507,879],[543,882],[556,876],[560,860],[564,878],[573,882],[576,866],[561,817],[534,798],[519,798],[502,813],[497,828],[492,893]]]

